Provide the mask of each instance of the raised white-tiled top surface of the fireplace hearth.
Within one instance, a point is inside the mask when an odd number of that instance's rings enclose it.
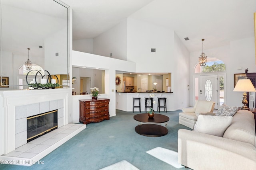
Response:
[[[84,126],[83,124],[68,124],[55,129],[42,137],[38,137],[29,143],[16,148],[14,151],[3,154],[2,156],[13,156],[18,158],[33,158],[43,150],[54,145],[66,136],[74,133],[77,129]]]

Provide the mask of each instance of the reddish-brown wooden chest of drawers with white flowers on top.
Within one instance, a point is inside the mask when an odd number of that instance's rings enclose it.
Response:
[[[98,100],[79,100],[79,121],[83,124],[97,123],[109,120],[108,104],[110,99],[98,98]]]

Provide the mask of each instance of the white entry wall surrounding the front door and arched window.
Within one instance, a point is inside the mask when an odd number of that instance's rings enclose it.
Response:
[[[226,64],[226,104],[230,106],[242,106],[242,92],[233,92],[234,74],[245,73],[248,68],[249,72],[256,72],[254,37],[231,41],[230,45],[214,49],[204,50],[208,57],[215,57]],[[198,63],[198,57],[202,51],[190,53],[190,106],[194,105],[194,84],[193,75],[194,66]],[[242,67],[242,70],[238,70]]]

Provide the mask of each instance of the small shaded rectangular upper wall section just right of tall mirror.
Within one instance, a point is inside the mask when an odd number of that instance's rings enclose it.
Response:
[[[93,54],[93,39],[73,40],[73,50]]]

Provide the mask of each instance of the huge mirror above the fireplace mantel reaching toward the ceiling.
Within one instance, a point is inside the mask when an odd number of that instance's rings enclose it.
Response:
[[[23,68],[28,57],[34,65],[69,84],[68,6],[58,0],[2,0],[0,5],[0,73],[9,80],[9,87],[0,90],[28,88],[27,70]],[[20,69],[24,69],[22,74]]]

